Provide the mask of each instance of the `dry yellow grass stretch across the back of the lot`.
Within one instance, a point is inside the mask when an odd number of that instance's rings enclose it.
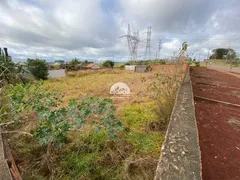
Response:
[[[89,75],[82,74],[80,76],[79,72],[71,72],[71,76],[67,76],[60,79],[48,80],[45,85],[50,90],[59,90],[63,93],[64,98],[62,99],[64,104],[72,98],[82,98],[86,95],[90,96],[102,96],[106,98],[112,98],[116,106],[124,105],[127,102],[143,101],[147,98],[147,82],[151,82],[154,78],[154,74],[157,71],[152,71],[148,73],[135,73],[126,70],[105,70],[99,73],[93,73]],[[144,78],[147,80],[143,82]],[[110,88],[114,83],[124,82],[126,83],[130,90],[130,97],[126,98],[115,98],[109,94]]]

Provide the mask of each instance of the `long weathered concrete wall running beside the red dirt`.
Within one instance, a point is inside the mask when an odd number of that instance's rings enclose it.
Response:
[[[201,167],[192,83],[188,70],[173,108],[155,180],[201,180]]]

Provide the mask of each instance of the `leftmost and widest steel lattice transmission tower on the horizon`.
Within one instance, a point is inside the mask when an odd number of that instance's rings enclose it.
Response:
[[[130,25],[128,24],[128,33],[122,37],[126,37],[128,41],[129,60],[137,60],[137,51],[139,40],[139,31],[131,33]]]

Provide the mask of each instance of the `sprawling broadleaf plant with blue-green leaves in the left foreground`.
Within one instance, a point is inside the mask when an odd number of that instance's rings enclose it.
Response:
[[[49,143],[60,147],[66,142],[69,130],[80,130],[88,123],[96,130],[106,130],[114,139],[117,131],[123,130],[121,122],[115,116],[115,107],[111,99],[99,96],[87,96],[72,99],[67,107],[61,107],[62,95],[44,88],[43,82],[34,85],[18,84],[9,90],[13,116],[19,118],[24,110],[36,112],[38,128],[34,137],[41,145]]]

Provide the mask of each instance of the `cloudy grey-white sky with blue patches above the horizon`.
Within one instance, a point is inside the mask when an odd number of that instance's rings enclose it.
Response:
[[[15,61],[91,59],[127,61],[127,26],[139,30],[144,58],[148,26],[152,57],[162,39],[161,58],[178,52],[206,58],[208,49],[240,52],[240,0],[0,0],[0,47]]]

